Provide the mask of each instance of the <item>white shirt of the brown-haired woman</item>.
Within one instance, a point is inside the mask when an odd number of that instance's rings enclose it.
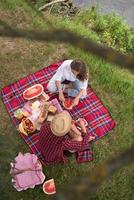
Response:
[[[50,83],[55,83],[55,81],[79,81],[80,83],[80,88],[81,89],[86,89],[88,81],[80,81],[79,79],[76,78],[76,76],[72,73],[71,70],[71,63],[73,60],[66,60],[64,61],[61,66],[58,68],[57,72],[54,74],[52,79],[50,80]]]

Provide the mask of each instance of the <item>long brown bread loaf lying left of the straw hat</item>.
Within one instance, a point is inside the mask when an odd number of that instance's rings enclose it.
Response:
[[[40,123],[43,123],[45,121],[45,119],[47,118],[48,108],[49,108],[49,103],[45,102],[41,108],[41,114],[40,114],[39,120],[38,120]]]

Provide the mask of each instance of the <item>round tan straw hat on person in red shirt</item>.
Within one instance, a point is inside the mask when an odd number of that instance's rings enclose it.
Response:
[[[66,135],[71,128],[71,116],[67,111],[63,111],[54,116],[51,122],[51,130],[56,136]]]

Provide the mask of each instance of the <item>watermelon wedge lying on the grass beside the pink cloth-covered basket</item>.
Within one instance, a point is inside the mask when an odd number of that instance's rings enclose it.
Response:
[[[56,193],[54,179],[50,179],[50,180],[44,182],[43,191],[46,194],[55,194]]]

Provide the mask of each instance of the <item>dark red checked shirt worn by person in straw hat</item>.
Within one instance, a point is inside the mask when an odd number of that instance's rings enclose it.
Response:
[[[89,151],[89,135],[83,133],[82,137],[82,142],[73,141],[69,137],[57,137],[52,133],[50,123],[45,123],[40,130],[39,137],[39,149],[44,155],[45,164],[67,163],[68,160],[64,155],[64,150],[77,151],[78,155],[79,151],[85,149]]]

